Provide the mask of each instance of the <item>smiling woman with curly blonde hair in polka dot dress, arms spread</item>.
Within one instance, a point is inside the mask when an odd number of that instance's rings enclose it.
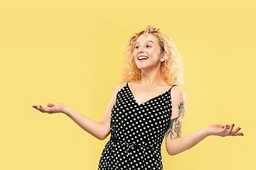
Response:
[[[111,133],[98,169],[163,169],[161,143],[178,154],[208,135],[240,136],[232,125],[209,125],[181,137],[186,96],[181,87],[181,57],[174,42],[156,26],[134,33],[125,45],[123,82],[114,87],[110,103],[97,123],[62,103],[48,108],[34,105],[43,113],[65,113],[82,129],[100,140]]]

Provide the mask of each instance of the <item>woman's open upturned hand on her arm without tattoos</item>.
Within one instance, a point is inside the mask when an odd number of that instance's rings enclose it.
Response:
[[[65,106],[63,103],[48,103],[48,108],[44,108],[43,106],[39,105],[33,105],[33,108],[36,108],[38,111],[41,111],[42,113],[64,113]]]

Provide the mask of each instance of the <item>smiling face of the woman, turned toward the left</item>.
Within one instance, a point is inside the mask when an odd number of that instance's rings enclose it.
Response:
[[[139,69],[154,69],[164,62],[164,52],[161,52],[159,40],[155,35],[139,35],[135,42],[133,57]]]

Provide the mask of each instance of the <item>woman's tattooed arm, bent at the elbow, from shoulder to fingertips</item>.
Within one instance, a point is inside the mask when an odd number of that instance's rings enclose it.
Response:
[[[181,124],[186,107],[186,95],[184,91],[174,86],[171,89],[172,114],[169,127],[166,132],[166,150],[170,155],[175,155],[190,149],[209,135],[218,136],[242,136],[242,132],[238,132],[241,128],[235,130],[234,124],[231,125],[209,125],[206,128],[198,130],[186,137],[181,137]]]

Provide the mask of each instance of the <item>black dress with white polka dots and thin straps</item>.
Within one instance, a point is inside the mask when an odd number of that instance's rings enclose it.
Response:
[[[111,137],[98,170],[163,169],[161,143],[170,117],[171,89],[138,104],[127,83],[117,93],[111,113]]]

